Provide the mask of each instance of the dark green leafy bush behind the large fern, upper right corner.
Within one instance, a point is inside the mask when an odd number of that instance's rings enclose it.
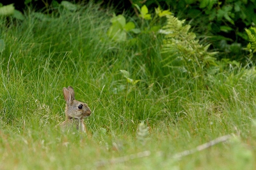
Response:
[[[139,1],[133,1],[139,3]],[[248,43],[244,28],[256,23],[254,1],[167,0],[145,1],[150,11],[156,6],[170,8],[179,19],[186,19],[197,37],[218,49],[219,58],[244,61],[243,47]],[[142,4],[141,4],[142,5]]]

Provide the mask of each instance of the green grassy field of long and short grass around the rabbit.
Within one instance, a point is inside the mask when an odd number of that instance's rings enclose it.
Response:
[[[0,169],[255,169],[254,67],[223,66],[207,86],[166,77],[161,35],[116,43],[111,12],[59,13],[0,19]],[[87,135],[55,127],[67,86],[92,109]]]

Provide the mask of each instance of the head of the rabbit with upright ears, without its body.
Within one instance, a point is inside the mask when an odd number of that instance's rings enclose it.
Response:
[[[66,100],[65,114],[66,119],[83,120],[90,116],[91,110],[86,103],[75,100],[75,92],[71,86],[63,88],[63,95]]]

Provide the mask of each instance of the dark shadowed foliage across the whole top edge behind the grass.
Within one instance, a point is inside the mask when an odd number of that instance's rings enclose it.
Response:
[[[87,4],[89,0],[70,1],[72,3]],[[170,9],[180,20],[186,19],[187,24],[192,26],[192,31],[203,43],[211,43],[212,50],[220,52],[219,59],[244,61],[246,52],[243,50],[248,43],[245,28],[254,26],[256,22],[256,3],[252,0],[125,0],[125,1],[102,1],[95,0],[102,9],[112,7],[116,14],[125,13],[129,17],[138,14],[138,10],[132,4],[146,5],[153,13],[154,8],[161,6],[163,10]],[[3,5],[14,3],[15,8],[24,12],[26,6],[33,6],[36,11],[49,10],[54,3],[61,0],[2,0]]]

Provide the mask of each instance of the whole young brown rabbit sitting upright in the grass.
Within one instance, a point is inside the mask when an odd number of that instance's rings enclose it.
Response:
[[[86,132],[84,118],[90,116],[90,108],[87,104],[75,100],[75,92],[71,86],[63,88],[63,95],[66,100],[66,120],[60,123],[60,126],[62,128],[76,126],[77,130]]]

